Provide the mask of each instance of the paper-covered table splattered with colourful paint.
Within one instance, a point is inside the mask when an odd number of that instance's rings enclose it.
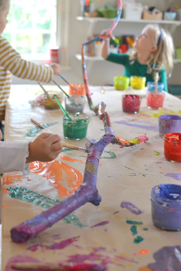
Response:
[[[79,141],[65,139],[61,110],[31,107],[28,103],[39,90],[39,86],[33,85],[12,86],[6,107],[5,140],[33,140],[35,136],[24,137],[35,126],[30,118],[41,124],[58,122],[40,132],[57,133],[63,142],[80,147],[85,147],[89,139],[98,140],[103,136],[103,122],[89,110],[86,102],[84,114],[90,119],[87,137]],[[174,251],[174,247],[180,246],[180,232],[164,231],[153,225],[150,192],[158,184],[180,184],[180,164],[164,158],[163,139],[158,135],[157,119],[158,115],[165,113],[181,115],[181,100],[166,93],[163,109],[151,110],[146,107],[146,91],[143,90],[139,93],[142,95],[140,112],[126,114],[122,112],[121,97],[127,92],[116,91],[109,86],[104,87],[104,94],[100,86],[90,87],[90,91],[93,93],[94,105],[100,101],[107,104],[106,111],[115,135],[122,139],[134,139],[146,133],[149,140],[134,147],[106,146],[97,175],[97,189],[102,197],[100,205],[96,207],[86,203],[24,244],[11,241],[11,228],[53,206],[55,199],[61,201],[75,191],[82,182],[86,154],[65,149],[56,159],[59,161],[58,166],[50,162],[43,171],[42,164],[34,164],[31,166],[34,172],[27,177],[21,172],[4,174],[2,270],[14,270],[10,266],[16,261],[88,261],[105,264],[107,270],[111,271],[148,271],[151,270],[148,264],[156,262],[154,253],[159,258],[162,256],[167,259],[162,262],[160,258],[157,263],[162,266],[161,270],[167,270],[169,259],[174,259],[174,253],[170,256],[165,247],[170,246],[170,250]],[[38,167],[37,171],[35,166]],[[27,189],[24,194],[21,194],[20,187]],[[10,196],[15,188],[19,189],[19,199],[15,194]],[[27,201],[25,194],[28,194]],[[178,269],[170,267],[169,270],[181,269],[180,262],[175,264]],[[158,269],[158,265],[154,266]],[[149,265],[152,268],[154,266]]]

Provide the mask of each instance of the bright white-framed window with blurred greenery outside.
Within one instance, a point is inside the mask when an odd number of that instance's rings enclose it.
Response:
[[[11,0],[3,36],[22,58],[47,63],[50,48],[68,45],[68,38],[60,35],[67,27],[68,8],[69,0]]]

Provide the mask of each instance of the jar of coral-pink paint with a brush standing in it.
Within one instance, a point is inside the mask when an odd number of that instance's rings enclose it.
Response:
[[[146,103],[148,108],[160,109],[164,104],[165,93],[164,92],[155,92],[153,90],[148,91],[146,94]]]

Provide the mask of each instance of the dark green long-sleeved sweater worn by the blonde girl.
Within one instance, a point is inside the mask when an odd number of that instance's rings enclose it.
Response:
[[[131,64],[129,61],[129,55],[110,53],[110,55],[108,56],[106,60],[109,60],[114,63],[122,64],[123,66],[125,66],[124,76],[128,76],[128,77],[132,75],[145,76],[146,82],[154,81],[153,73],[149,73],[149,74],[147,73],[148,66],[140,64],[138,60],[135,60],[134,63]],[[159,77],[160,77],[159,82],[164,83],[164,90],[168,92],[167,74],[164,67],[162,67],[161,71],[159,72]]]

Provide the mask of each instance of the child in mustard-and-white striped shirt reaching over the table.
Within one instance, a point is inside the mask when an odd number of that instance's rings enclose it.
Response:
[[[22,59],[8,40],[1,36],[8,22],[9,7],[9,0],[0,0],[0,123],[5,118],[5,105],[11,88],[11,73],[23,79],[45,83],[49,83],[53,75],[61,73],[61,66],[57,63],[37,65]]]

